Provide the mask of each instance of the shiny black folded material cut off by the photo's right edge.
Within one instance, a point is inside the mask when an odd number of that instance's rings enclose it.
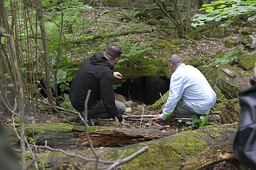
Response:
[[[240,92],[239,101],[241,113],[233,151],[242,164],[256,169],[256,77],[251,87]]]

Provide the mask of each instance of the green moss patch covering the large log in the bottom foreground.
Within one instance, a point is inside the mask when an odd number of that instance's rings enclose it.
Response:
[[[197,132],[183,132],[173,137],[171,142],[148,142],[149,150],[143,155],[133,159],[123,166],[123,169],[172,169],[182,166],[182,159],[188,155],[197,155],[206,148],[206,142],[202,140],[201,134]],[[124,157],[128,157],[135,151],[143,148],[140,145],[137,149],[127,149]],[[161,152],[159,152],[161,150]],[[119,151],[119,155],[123,151]]]

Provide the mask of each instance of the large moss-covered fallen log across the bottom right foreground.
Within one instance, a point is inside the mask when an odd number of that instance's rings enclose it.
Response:
[[[235,132],[237,132],[237,124],[206,126],[122,148],[101,147],[97,148],[97,153],[106,161],[115,161],[121,157],[122,159],[129,157],[139,149],[148,146],[149,150],[146,153],[122,165],[121,169],[205,169],[214,162],[235,158],[233,155]],[[94,158],[93,153],[87,147],[75,151],[86,154],[86,157]],[[55,157],[51,155],[52,164],[61,165],[57,162],[60,161],[58,157],[58,155]],[[65,158],[65,162],[71,165],[72,158]],[[77,167],[77,159],[75,159],[74,165],[78,169],[82,167],[93,169],[95,162],[85,162],[81,167]],[[99,164],[99,168],[103,167],[106,165]]]

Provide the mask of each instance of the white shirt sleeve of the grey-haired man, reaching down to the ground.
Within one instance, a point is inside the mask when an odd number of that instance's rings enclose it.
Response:
[[[184,85],[182,83],[182,78],[180,75],[172,76],[170,82],[170,91],[167,99],[167,103],[162,110],[161,118],[167,119],[172,115],[173,110],[177,106],[178,101],[181,99],[181,96],[184,92]]]

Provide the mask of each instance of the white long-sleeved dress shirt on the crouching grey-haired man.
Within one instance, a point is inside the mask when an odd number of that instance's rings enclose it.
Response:
[[[181,64],[172,74],[168,100],[161,114],[162,119],[172,114],[180,99],[197,114],[204,115],[215,105],[216,94],[199,69]]]

